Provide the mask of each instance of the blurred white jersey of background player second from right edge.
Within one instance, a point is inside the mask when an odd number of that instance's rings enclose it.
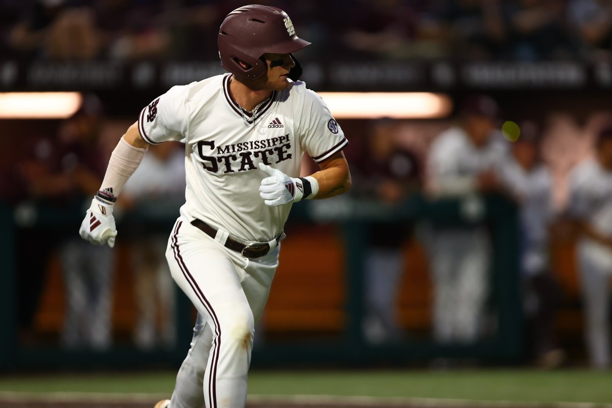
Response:
[[[548,224],[554,213],[550,171],[543,165],[528,171],[510,158],[503,167],[502,179],[520,201],[523,272],[541,272],[548,262]]]

